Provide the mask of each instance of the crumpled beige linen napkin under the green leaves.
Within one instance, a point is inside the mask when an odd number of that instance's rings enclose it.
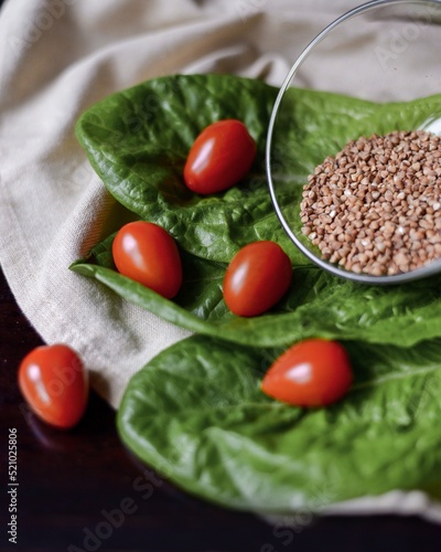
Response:
[[[358,3],[9,0],[3,6],[1,265],[36,331],[49,343],[66,342],[77,349],[92,371],[92,385],[114,407],[130,375],[187,332],[67,269],[116,230],[116,214],[121,209],[77,144],[74,125],[79,114],[112,92],[164,74],[234,73],[280,85],[320,30]],[[326,46],[311,61],[310,71],[298,84],[373,99],[394,89],[406,99],[409,83],[392,86],[395,75],[386,65],[406,61],[421,29],[418,22],[409,26],[402,21],[385,21],[384,25],[388,34],[383,57],[380,51],[374,51],[359,62],[355,49],[345,47],[337,39],[335,47]],[[353,42],[368,38],[362,28],[347,33]],[[433,79],[427,78],[437,56],[418,67],[421,78],[413,82],[411,94],[440,92],[439,82],[431,91]],[[375,89],[369,64],[375,64],[378,75]],[[377,507],[398,511],[401,505],[400,511],[430,512],[441,520],[421,493],[412,493],[408,507],[397,493],[387,497],[383,502],[362,501],[364,511]]]

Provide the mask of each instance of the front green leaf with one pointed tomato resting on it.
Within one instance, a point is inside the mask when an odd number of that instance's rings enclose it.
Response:
[[[344,344],[352,391],[332,407],[306,411],[259,390],[279,350],[193,336],[131,379],[119,434],[174,484],[229,508],[316,511],[391,489],[434,492],[441,341]]]

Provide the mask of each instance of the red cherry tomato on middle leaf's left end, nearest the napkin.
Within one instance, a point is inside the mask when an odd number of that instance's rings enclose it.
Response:
[[[173,237],[158,224],[130,222],[112,243],[118,272],[171,299],[182,284],[181,256]]]

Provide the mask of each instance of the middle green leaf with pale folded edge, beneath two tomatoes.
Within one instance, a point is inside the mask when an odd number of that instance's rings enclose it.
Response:
[[[169,300],[115,270],[111,241],[108,237],[87,262],[78,261],[72,269],[193,332],[255,347],[288,346],[319,336],[408,347],[441,336],[440,277],[392,288],[368,287],[312,265],[294,266],[290,290],[269,314],[240,318],[223,299],[225,263],[182,251],[184,282]]]

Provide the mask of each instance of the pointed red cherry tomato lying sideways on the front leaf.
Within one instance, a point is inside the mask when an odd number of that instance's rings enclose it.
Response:
[[[349,359],[338,342],[306,339],[273,362],[261,390],[288,404],[326,406],[347,393],[352,378]]]

